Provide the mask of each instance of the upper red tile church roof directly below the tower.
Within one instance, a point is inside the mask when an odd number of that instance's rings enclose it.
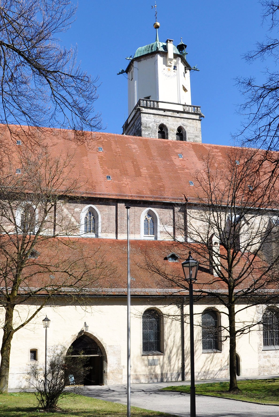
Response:
[[[22,147],[15,149],[22,151],[27,137],[17,127],[13,129],[22,139]],[[48,143],[54,156],[61,160],[67,155],[72,156],[64,173],[69,181],[78,178],[77,194],[104,198],[185,201],[186,196],[195,199],[199,193],[195,175],[204,171],[204,158],[214,156],[215,166],[222,169],[227,153],[233,149],[205,143],[89,132],[85,133],[84,143],[77,143],[72,131],[46,128],[30,128],[30,131],[32,140],[37,137],[40,144]],[[10,141],[5,126],[1,138]],[[102,152],[98,151],[99,146]],[[179,158],[179,153],[183,158]],[[111,176],[111,181],[107,180],[107,175]],[[190,186],[189,181],[194,181],[194,186]]]

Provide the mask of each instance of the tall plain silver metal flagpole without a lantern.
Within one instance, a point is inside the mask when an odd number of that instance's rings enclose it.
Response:
[[[127,208],[127,417],[131,417],[131,294],[130,294],[130,224]]]

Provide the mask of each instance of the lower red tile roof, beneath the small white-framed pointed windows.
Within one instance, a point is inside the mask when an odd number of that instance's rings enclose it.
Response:
[[[189,244],[189,249],[193,249]],[[75,292],[70,289],[70,263],[74,276],[81,276],[84,272],[84,261],[87,265],[93,265],[90,274],[75,286],[82,288],[82,294],[88,295],[125,295],[127,291],[127,241],[115,239],[97,238],[61,238],[48,240],[42,239],[36,248],[40,253],[37,259],[29,259],[29,267],[23,270],[23,276],[28,276],[20,285],[23,293],[32,288],[33,291],[41,287],[62,286],[60,293]],[[187,295],[188,291],[183,289],[184,276],[181,262],[188,256],[188,249],[172,241],[130,241],[131,248],[131,294],[136,296],[165,296],[165,295]],[[179,253],[183,258],[177,262],[169,262],[164,259],[169,253]],[[183,254],[183,255],[182,255]],[[82,257],[80,257],[82,255]],[[197,256],[195,256],[197,258]],[[80,261],[75,262],[80,259]],[[156,271],[151,271],[147,264],[152,260]],[[203,264],[204,259],[199,259]],[[241,264],[245,264],[245,258]],[[94,265],[97,266],[95,269]],[[241,267],[241,265],[239,266]],[[254,277],[257,271],[253,272]],[[168,277],[166,279],[165,276]],[[250,280],[252,277],[250,276]],[[253,281],[253,280],[252,280]],[[180,284],[176,284],[180,283]],[[245,288],[242,281],[236,290]],[[0,287],[3,283],[0,283]],[[187,285],[185,285],[187,288]],[[275,287],[273,287],[274,290]],[[86,289],[86,290],[84,290]],[[194,289],[211,292],[227,292],[227,286],[223,281],[209,273],[208,269],[199,269],[197,283]],[[40,294],[45,294],[45,290]]]

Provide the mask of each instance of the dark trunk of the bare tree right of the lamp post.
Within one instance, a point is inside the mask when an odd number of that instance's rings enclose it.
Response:
[[[234,303],[229,304],[229,392],[238,392]]]

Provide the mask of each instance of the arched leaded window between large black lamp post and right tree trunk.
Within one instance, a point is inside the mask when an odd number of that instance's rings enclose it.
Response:
[[[202,349],[219,349],[219,326],[215,311],[204,311],[202,313]]]

